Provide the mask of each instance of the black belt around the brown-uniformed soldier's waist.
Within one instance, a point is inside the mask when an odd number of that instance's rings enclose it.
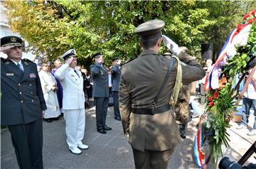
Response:
[[[168,111],[171,109],[169,104],[166,104],[161,107],[154,107],[154,108],[132,108],[132,113],[134,114],[161,114],[164,113],[164,111]]]

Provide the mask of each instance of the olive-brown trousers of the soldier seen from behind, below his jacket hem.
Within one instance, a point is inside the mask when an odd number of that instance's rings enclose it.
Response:
[[[137,151],[132,148],[136,169],[166,169],[174,149],[166,151]]]

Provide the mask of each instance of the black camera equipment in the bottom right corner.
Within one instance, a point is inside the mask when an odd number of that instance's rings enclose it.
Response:
[[[228,157],[224,157],[220,160],[218,165],[220,169],[256,169],[256,164],[250,163],[247,166],[242,166],[235,161],[231,161]]]

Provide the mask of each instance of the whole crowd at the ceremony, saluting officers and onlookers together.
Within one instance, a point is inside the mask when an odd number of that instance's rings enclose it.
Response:
[[[8,56],[1,58],[1,125],[7,125],[11,132],[18,166],[43,168],[42,117],[50,123],[63,115],[71,153],[89,148],[82,138],[85,108],[93,98],[97,132],[112,130],[106,116],[113,102],[114,119],[122,121],[135,167],[167,168],[174,148],[186,138],[189,110],[193,117],[201,114],[194,99],[198,92],[203,95],[203,79],[213,61],[206,60],[203,68],[188,55],[187,48],[161,35],[164,26],[161,20],[142,23],[134,31],[143,50],[138,58],[122,67],[121,58],[112,58],[108,68],[100,51],[92,55],[95,64],[90,65],[90,71],[78,65],[76,51],[70,49],[55,60],[53,70],[43,62],[38,72],[35,63],[21,59],[21,38],[1,38],[1,51]],[[162,41],[171,53],[159,54]],[[254,77],[242,100],[238,129],[247,125],[250,108],[255,111],[255,96]],[[256,120],[248,135],[256,135]]]

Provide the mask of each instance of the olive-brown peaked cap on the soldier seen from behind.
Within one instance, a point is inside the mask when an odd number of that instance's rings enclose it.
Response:
[[[137,33],[142,40],[160,38],[161,30],[164,28],[164,26],[164,21],[154,19],[140,24],[137,28],[135,28],[134,33]]]

